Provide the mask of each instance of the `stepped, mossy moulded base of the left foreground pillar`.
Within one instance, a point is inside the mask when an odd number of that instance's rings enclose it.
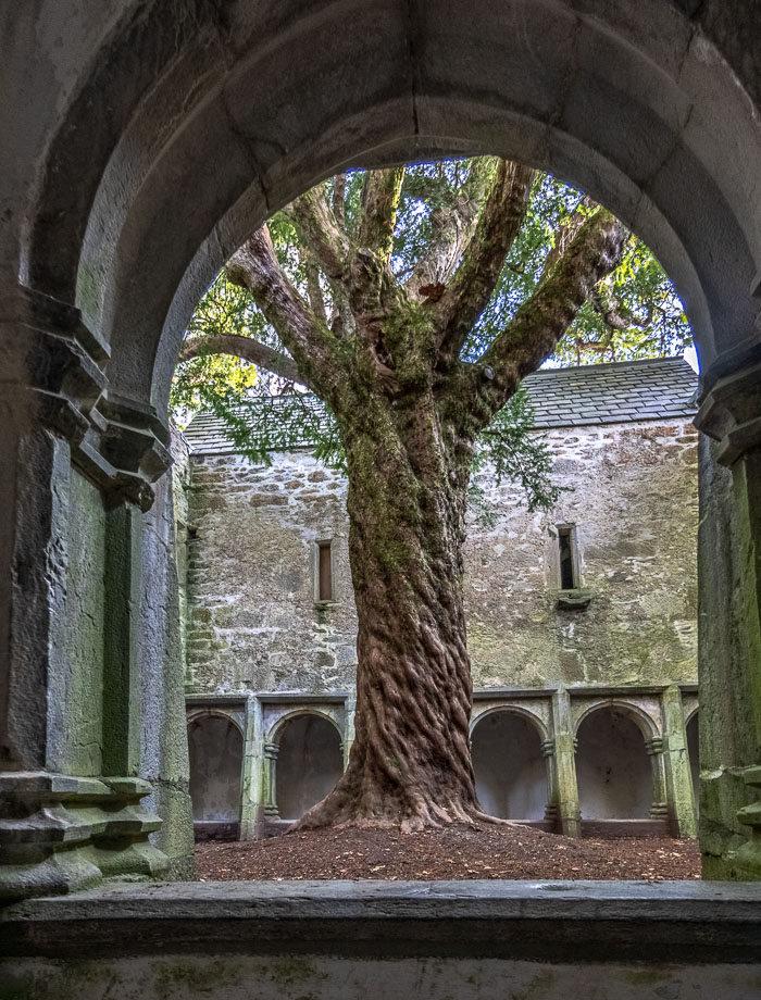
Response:
[[[140,805],[151,790],[134,777],[0,774],[0,899],[161,875],[169,860],[148,842],[161,820]]]

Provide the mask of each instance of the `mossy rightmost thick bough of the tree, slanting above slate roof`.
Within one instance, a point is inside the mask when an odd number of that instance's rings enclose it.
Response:
[[[597,283],[621,263],[628,235],[614,215],[598,209],[510,325],[477,364],[467,366],[474,414],[482,426],[504,405],[521,379],[551,354]]]

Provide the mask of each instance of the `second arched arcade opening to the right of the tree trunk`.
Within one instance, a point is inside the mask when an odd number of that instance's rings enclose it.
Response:
[[[585,833],[592,832],[589,821],[649,818],[652,767],[643,732],[625,711],[603,705],[582,721],[576,779]],[[604,832],[597,826],[594,822],[595,833]]]

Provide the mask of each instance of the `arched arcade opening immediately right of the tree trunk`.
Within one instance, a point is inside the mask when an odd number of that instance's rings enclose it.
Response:
[[[482,809],[500,820],[541,822],[547,763],[536,725],[516,712],[489,712],[476,722],[471,746]]]

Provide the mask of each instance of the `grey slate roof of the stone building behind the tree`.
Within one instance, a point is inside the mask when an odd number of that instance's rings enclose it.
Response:
[[[689,420],[698,409],[698,376],[683,358],[544,368],[528,375],[523,384],[537,429]],[[309,397],[304,402],[317,416],[317,400]],[[272,420],[282,422],[287,403],[274,398],[257,400],[252,405],[259,414],[260,408],[267,408]],[[198,413],[184,434],[194,454],[235,451],[225,437],[224,425],[212,413]]]

